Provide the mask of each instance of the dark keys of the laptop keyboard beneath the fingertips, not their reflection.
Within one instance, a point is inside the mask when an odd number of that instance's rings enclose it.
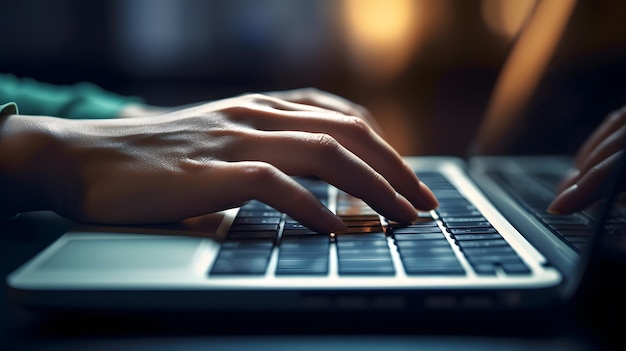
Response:
[[[341,233],[314,232],[264,203],[251,201],[239,210],[209,274],[264,275],[275,248],[276,276],[326,276],[331,273],[331,255],[340,276],[393,276],[399,270],[409,276],[464,276],[468,270],[484,276],[531,273],[445,177],[435,172],[418,175],[440,206],[420,213],[412,224],[381,221],[367,204],[341,191],[336,213],[348,226]],[[298,180],[328,204],[326,183]],[[393,256],[399,257],[400,264],[394,263]]]

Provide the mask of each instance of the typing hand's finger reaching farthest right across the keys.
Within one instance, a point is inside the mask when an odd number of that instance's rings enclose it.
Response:
[[[331,135],[381,174],[415,208],[426,211],[438,205],[433,193],[419,181],[402,157],[357,117],[327,118],[324,114],[312,112],[284,111],[260,113],[255,117],[255,127],[261,130],[295,130]]]

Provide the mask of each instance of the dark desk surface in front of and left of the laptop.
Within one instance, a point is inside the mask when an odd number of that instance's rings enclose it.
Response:
[[[4,278],[72,223],[52,213],[0,223]],[[0,349],[9,350],[597,350],[569,316],[42,315],[0,293]],[[535,323],[539,318],[549,323]]]

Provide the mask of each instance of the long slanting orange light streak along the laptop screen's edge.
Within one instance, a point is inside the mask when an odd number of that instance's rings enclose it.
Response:
[[[505,63],[475,140],[477,152],[499,153],[541,80],[575,0],[539,1]]]

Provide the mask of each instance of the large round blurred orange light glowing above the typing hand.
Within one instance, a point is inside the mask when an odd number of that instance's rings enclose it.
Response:
[[[423,0],[344,0],[351,61],[357,72],[385,81],[411,60],[426,20]]]

